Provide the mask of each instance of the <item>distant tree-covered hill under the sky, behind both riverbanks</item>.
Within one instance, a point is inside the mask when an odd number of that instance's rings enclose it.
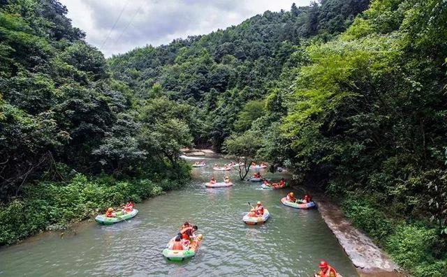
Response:
[[[196,110],[191,126],[196,144],[220,149],[235,128],[238,112],[249,100],[263,100],[286,67],[300,60],[306,38],[326,41],[344,31],[368,1],[321,1],[291,11],[266,11],[241,24],[205,36],[143,47],[112,57],[112,76],[141,98],[154,94],[186,103]],[[263,103],[245,107],[250,120]],[[253,112],[250,112],[253,111]],[[240,119],[237,130],[249,125]]]

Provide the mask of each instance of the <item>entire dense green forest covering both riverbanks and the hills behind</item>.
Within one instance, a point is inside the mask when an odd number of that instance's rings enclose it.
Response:
[[[66,12],[0,0],[0,244],[177,187],[195,144],[288,167],[414,276],[447,270],[445,0],[321,0],[107,60]]]

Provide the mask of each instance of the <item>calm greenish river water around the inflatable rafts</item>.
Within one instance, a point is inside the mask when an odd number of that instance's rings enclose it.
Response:
[[[191,184],[136,204],[140,212],[127,222],[86,222],[63,237],[47,232],[2,248],[0,276],[307,277],[322,258],[342,276],[358,276],[318,210],[284,207],[280,199],[290,189],[260,190],[259,183],[238,181],[236,171],[212,171],[226,160],[206,160],[207,167],[193,169]],[[212,174],[218,181],[228,174],[235,186],[205,188]],[[264,225],[245,225],[247,202],[258,200],[271,217]],[[203,244],[191,260],[169,262],[161,251],[185,220],[198,225]]]

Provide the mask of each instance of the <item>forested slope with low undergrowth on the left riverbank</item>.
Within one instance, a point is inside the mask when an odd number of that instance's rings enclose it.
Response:
[[[135,97],[66,13],[0,1],[0,245],[189,177],[193,111]]]

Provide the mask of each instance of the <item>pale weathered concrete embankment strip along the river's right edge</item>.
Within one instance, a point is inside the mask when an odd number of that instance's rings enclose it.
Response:
[[[311,190],[312,191],[312,190]],[[402,277],[399,267],[376,246],[372,239],[363,234],[344,218],[342,211],[333,202],[323,197],[323,193],[314,193],[318,211],[339,244],[349,256],[362,277]]]

